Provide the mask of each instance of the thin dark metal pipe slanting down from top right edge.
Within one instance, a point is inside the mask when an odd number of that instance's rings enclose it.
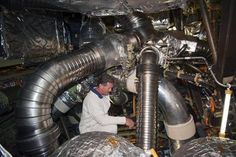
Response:
[[[211,29],[209,16],[208,16],[208,13],[207,13],[207,10],[206,10],[206,4],[205,4],[204,0],[199,0],[199,4],[200,4],[201,14],[202,14],[202,17],[203,17],[203,23],[204,23],[206,31],[207,31],[207,39],[208,39],[210,49],[211,49],[211,52],[212,52],[212,62],[213,62],[213,64],[216,64],[216,62],[217,62],[217,50],[216,50],[214,34],[213,34],[212,29]]]

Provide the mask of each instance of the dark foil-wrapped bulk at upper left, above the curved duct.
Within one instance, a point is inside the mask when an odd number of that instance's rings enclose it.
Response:
[[[1,56],[39,62],[67,51],[64,22],[46,14],[5,11],[1,16]]]

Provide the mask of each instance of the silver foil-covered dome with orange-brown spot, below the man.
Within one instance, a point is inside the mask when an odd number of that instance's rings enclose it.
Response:
[[[59,147],[52,157],[145,157],[142,149],[118,135],[90,132],[72,138]]]

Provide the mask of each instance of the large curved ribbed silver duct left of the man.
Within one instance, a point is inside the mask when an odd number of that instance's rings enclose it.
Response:
[[[55,151],[60,131],[52,120],[51,105],[69,84],[104,66],[104,56],[83,48],[47,62],[25,80],[16,105],[19,152],[48,156]]]

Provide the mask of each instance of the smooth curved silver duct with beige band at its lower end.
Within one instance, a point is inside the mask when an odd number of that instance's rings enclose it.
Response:
[[[172,151],[174,152],[194,136],[195,123],[183,97],[164,78],[159,81],[158,100],[164,117],[165,129],[172,140]]]

